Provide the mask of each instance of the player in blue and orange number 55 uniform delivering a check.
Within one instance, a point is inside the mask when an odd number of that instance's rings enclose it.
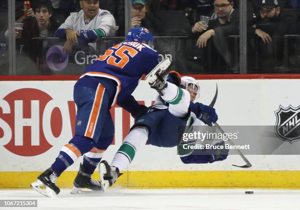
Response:
[[[58,194],[57,177],[83,155],[75,187],[101,190],[100,183],[91,174],[113,140],[110,107],[118,104],[137,117],[145,109],[131,95],[139,80],[155,68],[166,70],[171,63],[164,60],[158,64],[158,53],[152,47],[153,38],[147,28],[132,28],[125,42],[107,49],[85,69],[74,86],[75,136],[60,150],[51,167],[31,184],[33,189],[46,196]],[[46,186],[46,190],[41,186]]]

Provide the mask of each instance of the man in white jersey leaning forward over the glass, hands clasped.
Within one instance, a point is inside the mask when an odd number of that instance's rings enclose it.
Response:
[[[55,36],[67,39],[63,49],[72,52],[75,44],[87,45],[98,38],[115,35],[115,19],[107,10],[101,10],[99,0],[80,0],[82,10],[71,13],[55,32]]]

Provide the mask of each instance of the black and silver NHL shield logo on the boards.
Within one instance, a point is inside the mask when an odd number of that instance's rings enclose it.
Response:
[[[276,136],[290,144],[300,140],[300,105],[297,108],[289,105],[287,108],[279,105],[276,115]]]

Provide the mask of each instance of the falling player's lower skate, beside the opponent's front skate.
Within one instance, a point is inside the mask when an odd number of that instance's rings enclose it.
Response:
[[[121,174],[118,168],[110,167],[105,160],[100,162],[99,176],[103,191],[105,191],[108,187],[112,186],[120,175]]]

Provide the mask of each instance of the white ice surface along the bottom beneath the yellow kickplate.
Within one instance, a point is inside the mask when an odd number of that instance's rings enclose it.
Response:
[[[300,190],[110,189],[72,195],[62,189],[47,198],[32,189],[0,189],[3,199],[37,199],[37,208],[6,210],[300,210]],[[254,191],[254,194],[245,194]]]

